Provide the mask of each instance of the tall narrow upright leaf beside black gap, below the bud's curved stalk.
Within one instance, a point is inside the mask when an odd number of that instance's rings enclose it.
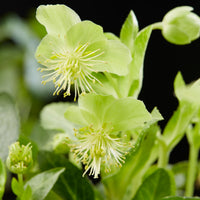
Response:
[[[132,61],[129,64],[129,73],[125,77],[120,77],[118,86],[121,96],[138,97],[143,82],[143,63],[147,44],[152,32],[152,27],[148,26],[137,34],[134,41]]]

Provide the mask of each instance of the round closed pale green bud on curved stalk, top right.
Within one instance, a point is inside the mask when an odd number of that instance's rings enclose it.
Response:
[[[181,6],[169,11],[162,21],[163,37],[177,45],[189,44],[200,36],[200,18],[192,7]]]

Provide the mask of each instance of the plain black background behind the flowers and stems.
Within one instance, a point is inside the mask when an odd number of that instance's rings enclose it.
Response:
[[[75,10],[82,20],[89,19],[101,26],[104,31],[119,35],[129,11],[132,9],[139,21],[140,29],[161,21],[163,16],[172,8],[189,5],[200,16],[200,1],[198,0],[132,0],[132,1],[35,1],[16,0],[1,3],[0,16],[15,12],[26,18],[30,11],[35,11],[41,4],[65,4]],[[157,106],[165,121],[164,127],[173,111],[177,107],[177,100],[173,94],[173,80],[178,71],[181,71],[187,83],[200,77],[200,40],[189,45],[176,46],[168,43],[160,31],[154,31],[146,52],[144,63],[144,85],[140,99],[144,101],[149,110]],[[171,162],[187,159],[187,146],[184,139],[172,153]]]

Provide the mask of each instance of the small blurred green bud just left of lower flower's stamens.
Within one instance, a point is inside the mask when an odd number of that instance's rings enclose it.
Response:
[[[69,152],[69,138],[64,133],[58,133],[53,138],[53,149],[57,154],[66,154]]]

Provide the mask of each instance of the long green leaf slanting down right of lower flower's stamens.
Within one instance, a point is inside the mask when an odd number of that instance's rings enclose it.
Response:
[[[127,156],[119,172],[103,179],[109,199],[126,200],[134,196],[144,174],[157,157],[157,131],[157,126],[153,125],[145,133],[140,133],[134,151]]]

